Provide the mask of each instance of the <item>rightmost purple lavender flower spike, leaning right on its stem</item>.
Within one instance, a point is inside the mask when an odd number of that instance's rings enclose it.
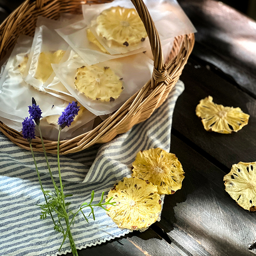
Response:
[[[77,101],[72,101],[68,103],[67,108],[64,109],[61,116],[59,117],[58,124],[60,125],[60,130],[65,126],[70,126],[74,121],[75,116],[78,114],[80,106],[77,107]]]

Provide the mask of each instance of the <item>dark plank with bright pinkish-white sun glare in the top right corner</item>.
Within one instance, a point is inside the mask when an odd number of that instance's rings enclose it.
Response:
[[[197,29],[194,55],[256,97],[256,21],[219,1],[179,0]]]

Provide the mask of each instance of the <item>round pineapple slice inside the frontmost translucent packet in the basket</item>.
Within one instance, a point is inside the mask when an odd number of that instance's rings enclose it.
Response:
[[[92,100],[114,101],[123,91],[122,78],[109,67],[96,65],[76,69],[75,86]]]

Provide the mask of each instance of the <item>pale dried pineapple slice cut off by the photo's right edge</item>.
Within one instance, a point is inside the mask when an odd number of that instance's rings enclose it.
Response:
[[[256,211],[256,162],[233,164],[224,176],[225,190],[245,210]]]

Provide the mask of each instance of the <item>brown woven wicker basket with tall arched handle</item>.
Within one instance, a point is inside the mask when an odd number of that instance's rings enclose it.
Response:
[[[127,132],[133,125],[148,119],[167,98],[187,63],[195,41],[194,34],[176,37],[172,52],[164,64],[159,36],[148,9],[142,0],[131,1],[148,33],[155,66],[152,79],[92,131],[70,140],[60,141],[60,154],[74,153],[96,143],[108,142],[117,134]],[[91,0],[88,2],[91,4],[109,1]],[[15,44],[20,34],[33,36],[37,16],[57,19],[61,12],[81,13],[81,4],[86,4],[86,2],[79,0],[36,0],[32,2],[26,0],[0,26],[0,59]],[[28,141],[22,138],[21,133],[10,129],[1,122],[0,130],[15,144],[30,150]],[[57,154],[57,141],[44,140],[44,145],[48,153]],[[34,151],[43,151],[40,138],[36,137],[32,141],[32,147]]]

